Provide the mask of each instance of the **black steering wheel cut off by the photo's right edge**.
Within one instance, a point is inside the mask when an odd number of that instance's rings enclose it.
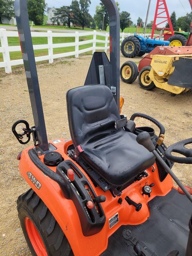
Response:
[[[192,144],[192,138],[174,143],[165,150],[165,157],[175,163],[192,164],[192,149],[185,147],[188,144]],[[173,156],[172,152],[179,153],[185,157]]]

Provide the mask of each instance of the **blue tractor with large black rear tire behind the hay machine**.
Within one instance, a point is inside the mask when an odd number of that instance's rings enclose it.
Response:
[[[128,36],[123,40],[121,52],[127,58],[141,57],[145,53],[150,53],[156,46],[168,46],[169,44],[169,41],[144,38],[134,33],[134,36]]]

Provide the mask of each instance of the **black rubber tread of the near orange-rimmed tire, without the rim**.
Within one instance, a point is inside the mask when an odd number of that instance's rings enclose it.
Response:
[[[67,238],[54,216],[32,189],[29,189],[18,197],[18,212],[20,208],[28,209],[40,225],[43,231],[42,235],[46,238],[47,244],[49,245],[51,256],[74,255]]]

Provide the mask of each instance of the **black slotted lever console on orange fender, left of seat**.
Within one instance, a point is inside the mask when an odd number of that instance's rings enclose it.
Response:
[[[74,181],[71,182],[67,177],[67,170],[74,170]],[[81,222],[81,228],[84,236],[91,236],[99,233],[105,224],[105,214],[100,203],[97,208],[88,209],[86,203],[96,198],[89,181],[79,168],[70,160],[61,162],[56,169],[56,173],[65,181],[68,193],[65,194],[67,199],[73,201]],[[85,188],[87,186],[88,189]],[[91,191],[92,197],[88,193]]]

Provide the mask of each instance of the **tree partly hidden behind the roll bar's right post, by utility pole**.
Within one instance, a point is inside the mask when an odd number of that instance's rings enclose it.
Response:
[[[119,9],[119,3],[116,2],[116,4]],[[104,15],[104,19],[103,19],[103,15]],[[107,30],[107,27],[109,25],[109,15],[108,15],[107,9],[105,8],[105,5],[103,3],[100,3],[100,5],[96,6],[94,20],[95,20],[97,27],[99,27],[100,23],[102,22],[102,28],[104,28],[104,30]],[[104,20],[104,24],[103,24],[103,20]]]

